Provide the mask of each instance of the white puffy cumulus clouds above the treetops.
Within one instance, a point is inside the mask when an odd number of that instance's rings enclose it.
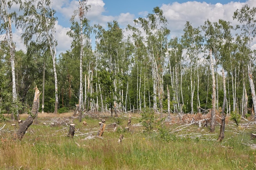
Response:
[[[119,15],[112,16],[106,15],[105,0],[88,0],[91,9],[87,14],[91,25],[100,24],[107,26],[108,22],[116,20],[122,28],[126,28],[128,24],[133,25],[133,20],[136,17],[146,17],[148,11],[140,11],[136,16],[133,13],[120,13]],[[79,7],[78,0],[54,0],[53,9],[58,14],[58,24],[56,25],[56,39],[58,41],[58,53],[65,52],[70,49],[71,39],[66,35],[70,30],[69,20],[74,14],[74,10]],[[251,7],[256,7],[255,0],[247,0],[246,3]],[[193,27],[198,27],[204,24],[209,19],[211,22],[217,22],[219,19],[230,21],[232,25],[238,24],[233,20],[234,11],[240,9],[243,4],[241,2],[229,2],[227,4],[216,3],[208,4],[206,2],[188,1],[184,3],[173,2],[170,4],[162,4],[160,7],[166,19],[168,20],[168,28],[171,30],[171,36],[181,36],[183,34],[184,25],[186,21],[191,22]],[[148,9],[150,11],[150,9]],[[21,30],[15,31],[15,41],[19,41]],[[125,33],[127,35],[128,33]],[[18,44],[17,48],[25,49],[22,43]],[[93,42],[92,42],[93,43]],[[254,45],[255,48],[255,45]]]

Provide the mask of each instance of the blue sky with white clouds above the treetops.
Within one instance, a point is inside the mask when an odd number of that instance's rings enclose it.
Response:
[[[146,17],[148,13],[153,13],[154,7],[159,7],[168,20],[171,37],[180,37],[183,34],[186,21],[189,21],[193,27],[203,25],[207,19],[211,22],[223,19],[236,25],[238,23],[232,19],[234,11],[240,9],[243,4],[256,7],[256,0],[88,0],[88,4],[91,5],[91,8],[87,18],[91,25],[100,24],[105,29],[107,29],[107,23],[114,20],[121,28],[126,28],[128,24],[134,26],[133,20],[138,17]],[[56,10],[58,17],[55,35],[58,41],[58,55],[70,50],[72,39],[66,33],[70,30],[70,18],[73,11],[78,9],[79,1],[53,0],[52,7]],[[16,29],[13,32],[16,50],[25,50],[19,39],[22,30]],[[124,33],[124,35],[127,34],[129,33]],[[93,41],[92,46],[94,46]],[[256,49],[256,43],[253,48]]]

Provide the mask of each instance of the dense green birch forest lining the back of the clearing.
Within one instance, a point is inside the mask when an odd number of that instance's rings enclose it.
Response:
[[[188,21],[183,35],[170,37],[167,25],[172,23],[158,7],[133,26],[123,29],[113,21],[104,29],[90,25],[90,6],[81,1],[67,32],[72,46],[56,56],[58,19],[48,0],[20,2],[20,15],[8,13],[11,3],[1,2],[0,28],[6,36],[0,41],[0,115],[29,113],[37,86],[42,91],[39,111],[45,112],[63,113],[80,104],[84,111],[95,112],[153,108],[159,113],[204,113],[213,107],[212,100],[219,111],[226,100],[227,114],[254,116],[256,51],[251,46],[256,7],[234,11],[238,26],[220,19],[194,28]],[[24,30],[21,39],[27,51],[15,50],[11,22]],[[130,35],[125,37],[124,30]]]

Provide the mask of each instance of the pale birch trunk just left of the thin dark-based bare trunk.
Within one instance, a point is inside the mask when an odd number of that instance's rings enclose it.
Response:
[[[212,76],[212,109],[211,109],[211,132],[215,130],[215,110],[216,110],[216,82],[215,82],[215,75],[214,75],[214,64],[213,64],[213,57],[210,50],[210,60],[211,60],[211,76]]]

